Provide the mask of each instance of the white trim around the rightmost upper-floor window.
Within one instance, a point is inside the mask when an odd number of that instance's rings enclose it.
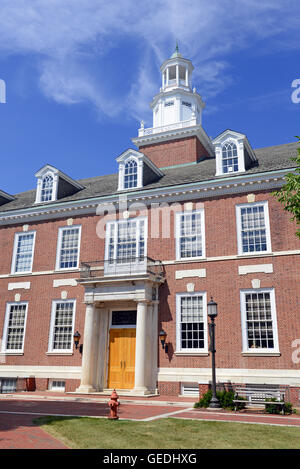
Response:
[[[265,225],[266,225],[266,240],[267,240],[267,250],[266,251],[253,251],[253,252],[243,252],[242,244],[242,223],[241,223],[241,209],[246,207],[254,207],[258,205],[264,206],[264,216],[265,216]],[[235,206],[236,209],[236,230],[237,230],[237,243],[238,243],[238,255],[239,256],[257,256],[258,254],[271,254],[272,245],[271,245],[271,231],[270,231],[270,216],[269,216],[269,204],[267,200],[262,200],[260,202],[251,202],[248,204],[238,204]]]

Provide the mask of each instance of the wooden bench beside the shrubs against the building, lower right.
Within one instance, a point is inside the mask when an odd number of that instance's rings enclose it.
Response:
[[[244,399],[238,399],[238,397],[243,397]],[[266,401],[266,399],[276,399],[276,401]],[[279,405],[281,406],[282,413],[284,411],[284,391],[279,389],[276,386],[245,386],[245,387],[237,387],[235,389],[235,399],[233,400],[235,404],[235,412],[237,411],[238,404],[271,404],[271,405]]]

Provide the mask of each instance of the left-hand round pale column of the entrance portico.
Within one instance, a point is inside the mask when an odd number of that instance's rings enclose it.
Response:
[[[94,303],[86,304],[81,383],[77,392],[95,392],[97,356],[97,313]]]

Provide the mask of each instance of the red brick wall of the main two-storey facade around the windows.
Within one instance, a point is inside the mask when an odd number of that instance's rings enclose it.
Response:
[[[259,200],[269,201],[273,252],[299,250],[300,240],[295,236],[296,225],[290,221],[290,215],[284,212],[282,206],[267,192],[258,193],[256,201]],[[207,258],[236,256],[235,205],[246,202],[246,195],[201,200],[201,203],[204,203],[205,209]],[[193,203],[195,207],[196,202]],[[166,218],[166,211],[167,208],[163,211],[162,218],[164,219]],[[74,225],[82,225],[81,261],[102,260],[104,258],[104,240],[99,239],[96,235],[98,221],[99,217],[96,215],[74,218]],[[29,229],[37,231],[33,272],[54,270],[58,228],[60,226],[66,226],[66,219],[30,224]],[[22,231],[22,225],[1,227],[0,229],[0,275],[10,273],[14,234],[18,231]],[[187,283],[192,282],[195,284],[195,291],[206,291],[208,299],[212,295],[218,302],[219,316],[216,320],[217,367],[299,370],[299,364],[294,364],[291,359],[292,352],[294,351],[291,344],[295,339],[300,338],[299,255],[270,255],[222,261],[203,260],[193,263],[176,263],[174,262],[174,214],[171,216],[170,237],[151,239],[150,232],[149,220],[148,256],[172,262],[171,265],[165,266],[166,282],[160,287],[158,327],[163,328],[168,334],[169,353],[166,355],[161,347],[159,347],[159,367],[210,368],[211,366],[209,356],[183,357],[174,354],[176,349],[176,293],[186,292]],[[238,266],[240,265],[263,263],[273,264],[274,273],[238,275]],[[175,280],[176,270],[199,268],[206,269],[205,278]],[[14,275],[9,278],[0,278],[0,337],[3,330],[6,303],[14,301],[16,293],[21,294],[21,301],[29,301],[24,355],[7,356],[6,365],[81,365],[81,355],[78,350],[74,350],[72,356],[49,356],[46,354],[48,350],[52,300],[60,299],[62,290],[68,292],[68,299],[76,299],[75,330],[78,330],[83,335],[85,317],[83,287],[53,287],[54,279],[76,278],[78,276],[79,273],[77,271],[63,274]],[[261,280],[262,288],[275,288],[280,357],[245,357],[241,353],[242,337],[239,292],[240,289],[252,288],[251,280],[255,278]],[[18,281],[31,282],[30,290],[8,291],[8,283]],[[172,386],[176,388],[177,385],[178,383],[168,386],[170,386],[170,389],[173,389]],[[159,386],[162,387],[162,383]]]

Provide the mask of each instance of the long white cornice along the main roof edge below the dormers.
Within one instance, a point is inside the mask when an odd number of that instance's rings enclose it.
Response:
[[[284,175],[291,169],[244,174],[234,177],[215,178],[209,181],[201,181],[190,184],[178,184],[176,186],[161,187],[156,189],[141,189],[122,193],[127,197],[128,203],[143,202],[150,205],[153,202],[181,202],[201,198],[219,197],[223,195],[234,195],[274,190],[284,184]],[[40,220],[53,220],[70,216],[82,216],[96,214],[99,204],[116,204],[120,202],[120,194],[110,196],[99,196],[85,200],[70,201],[66,203],[51,203],[46,207],[30,207],[27,209],[0,212],[0,225],[11,225],[25,222],[35,223]]]

